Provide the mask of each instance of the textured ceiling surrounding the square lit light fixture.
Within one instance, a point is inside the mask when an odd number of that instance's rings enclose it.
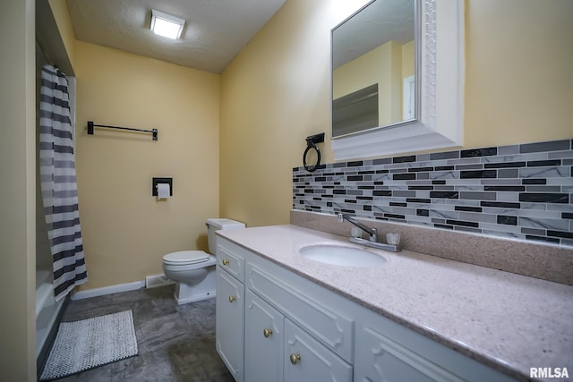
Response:
[[[220,73],[286,0],[67,0],[75,37]],[[182,38],[150,30],[151,9],[184,18]]]

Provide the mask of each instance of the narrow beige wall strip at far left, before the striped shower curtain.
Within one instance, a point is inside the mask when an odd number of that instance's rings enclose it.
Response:
[[[0,376],[36,380],[34,0],[0,13]]]

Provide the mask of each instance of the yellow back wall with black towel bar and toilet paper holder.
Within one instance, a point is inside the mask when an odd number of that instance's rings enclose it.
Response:
[[[161,257],[207,250],[218,217],[219,76],[76,42],[77,178],[88,283],[162,273]],[[96,128],[87,121],[150,134]],[[173,198],[151,196],[151,178],[173,177]]]

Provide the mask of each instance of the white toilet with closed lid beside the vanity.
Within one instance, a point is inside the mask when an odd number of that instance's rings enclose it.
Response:
[[[231,219],[208,219],[207,239],[209,251],[215,254],[217,235],[220,229],[244,228],[244,223]],[[176,282],[175,301],[185,304],[215,297],[215,256],[202,250],[181,250],[163,257],[163,273]]]

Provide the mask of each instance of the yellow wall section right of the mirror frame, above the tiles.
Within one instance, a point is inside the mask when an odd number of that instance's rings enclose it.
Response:
[[[573,136],[573,2],[466,2],[466,147]]]

